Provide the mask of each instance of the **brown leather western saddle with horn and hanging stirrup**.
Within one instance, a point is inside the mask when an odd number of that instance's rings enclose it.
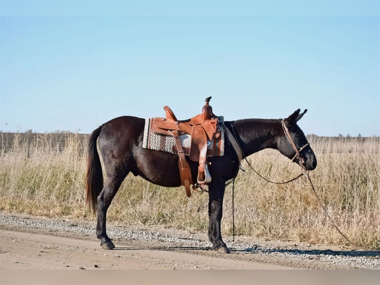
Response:
[[[191,178],[189,162],[186,160],[183,147],[180,142],[180,135],[189,134],[191,136],[191,146],[189,158],[191,161],[199,163],[197,185],[193,189],[201,187],[211,182],[211,176],[208,171],[207,162],[207,145],[212,139],[220,136],[220,127],[218,117],[212,113],[212,107],[209,105],[211,97],[207,97],[202,108],[202,113],[192,117],[189,120],[179,121],[173,111],[165,106],[165,118],[153,118],[151,131],[164,135],[173,136],[176,141],[178,154],[178,164],[180,169],[181,184],[186,188],[186,194],[191,196],[190,184],[194,184]]]

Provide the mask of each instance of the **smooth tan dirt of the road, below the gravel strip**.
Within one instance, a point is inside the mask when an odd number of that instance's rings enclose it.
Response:
[[[255,261],[197,254],[204,249],[160,249],[120,245],[100,248],[98,241],[0,230],[1,269],[290,269]]]

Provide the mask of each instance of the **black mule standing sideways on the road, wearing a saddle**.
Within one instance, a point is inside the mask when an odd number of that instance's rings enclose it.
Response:
[[[283,120],[244,119],[224,122],[224,124],[234,133],[244,156],[249,156],[264,148],[274,148],[293,159],[294,162],[302,162],[306,170],[313,170],[317,167],[317,158],[303,131],[297,125],[306,111],[300,113],[298,109]],[[181,186],[176,154],[142,148],[144,123],[145,120],[141,118],[118,117],[97,128],[89,138],[86,201],[93,212],[97,213],[96,236],[104,249],[115,248],[106,232],[107,210],[129,172],[160,186]],[[287,139],[282,124],[289,130],[295,145],[301,149],[298,156]],[[105,183],[97,144],[103,158],[107,178]],[[198,163],[187,159],[192,180],[196,181]],[[209,157],[209,162],[211,162],[209,172],[212,181],[208,184],[208,238],[214,250],[228,253],[229,250],[222,240],[220,229],[223,197],[226,182],[238,175],[240,161],[233,146],[225,143],[224,155]]]

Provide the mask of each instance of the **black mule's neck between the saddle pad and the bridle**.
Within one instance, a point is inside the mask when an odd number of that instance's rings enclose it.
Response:
[[[264,148],[277,149],[278,137],[282,134],[281,120],[244,119],[230,122],[244,155],[249,156]]]

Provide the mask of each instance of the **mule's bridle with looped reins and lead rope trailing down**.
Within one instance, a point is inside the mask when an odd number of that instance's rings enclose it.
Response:
[[[269,182],[269,183],[273,183],[273,184],[286,184],[286,183],[289,183],[289,182],[292,182],[298,178],[300,178],[301,176],[303,175],[306,175],[308,180],[309,180],[309,183],[310,183],[310,186],[312,188],[312,191],[313,191],[313,194],[315,195],[316,199],[317,199],[317,202],[320,206],[320,208],[322,208],[323,210],[323,214],[326,216],[326,218],[331,222],[331,224],[333,225],[333,227],[339,232],[339,234],[345,239],[347,240],[351,245],[357,247],[357,248],[361,248],[363,249],[363,247],[360,247],[359,245],[357,245],[356,243],[354,243],[353,241],[351,241],[344,233],[342,233],[342,231],[336,226],[336,224],[334,223],[334,221],[332,220],[332,218],[330,217],[330,215],[327,213],[325,207],[323,206],[322,202],[320,201],[319,199],[319,196],[317,195],[317,191],[316,189],[314,188],[314,185],[313,185],[313,182],[312,182],[312,179],[310,178],[309,176],[309,170],[306,169],[305,167],[305,160],[304,158],[301,156],[301,151],[308,145],[310,145],[310,143],[307,143],[305,144],[304,146],[300,147],[300,149],[298,149],[297,145],[294,143],[294,140],[292,138],[292,136],[290,135],[289,133],[289,130],[288,128],[286,127],[285,123],[284,123],[284,120],[281,121],[281,125],[282,125],[282,129],[285,133],[285,137],[288,139],[289,143],[293,146],[294,150],[296,151],[296,155],[294,155],[294,157],[292,158],[292,161],[294,162],[294,159],[296,157],[298,157],[298,164],[301,166],[303,172],[301,174],[299,174],[298,176],[296,176],[295,178],[289,180],[289,181],[286,181],[286,182],[273,182],[273,181],[270,181],[268,179],[266,179],[265,177],[261,176],[253,167],[252,165],[248,162],[248,159],[247,159],[247,156],[245,155],[244,151],[243,151],[243,148],[242,146],[240,145],[239,141],[238,141],[238,137],[236,135],[236,132],[235,132],[235,128],[234,128],[234,125],[231,123],[231,128],[232,128],[232,132],[234,134],[234,137],[235,137],[235,140],[236,142],[238,143],[239,147],[240,147],[240,150],[241,152],[243,153],[243,156],[244,156],[244,159],[246,160],[247,164],[251,167],[251,169],[254,171],[254,173],[256,173],[258,176],[260,176],[262,179],[264,179],[265,181]],[[243,170],[243,169],[242,169]],[[245,170],[243,170],[245,171]],[[232,186],[232,221],[233,221],[233,242],[235,241],[235,219],[234,219],[234,188],[235,188],[235,178],[233,178],[233,186]],[[231,183],[231,182],[230,182]],[[230,183],[227,183],[226,185],[230,184]]]

